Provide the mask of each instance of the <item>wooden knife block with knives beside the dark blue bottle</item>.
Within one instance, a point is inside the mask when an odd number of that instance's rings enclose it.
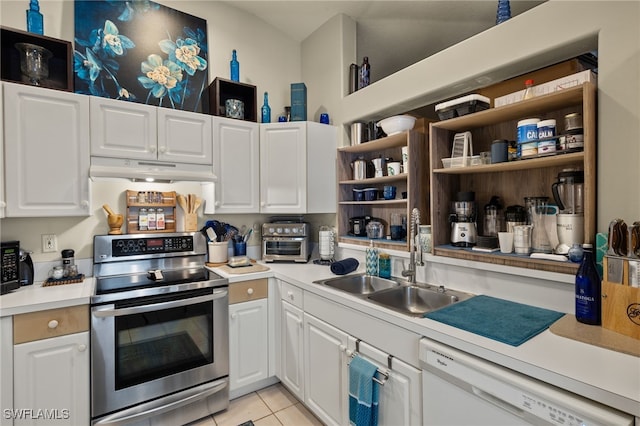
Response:
[[[630,263],[637,263],[637,259],[616,258],[615,260],[621,260],[623,271],[629,272],[631,272]],[[605,279],[602,281],[602,327],[640,340],[640,287],[632,287],[628,284],[629,272],[624,274],[627,279],[621,282],[607,280],[611,261],[612,259],[608,256],[603,260]]]

